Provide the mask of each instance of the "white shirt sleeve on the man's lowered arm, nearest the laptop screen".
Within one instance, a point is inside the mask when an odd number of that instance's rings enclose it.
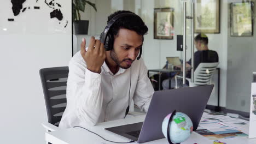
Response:
[[[148,78],[148,69],[146,65],[142,59],[140,61],[141,64],[139,69],[139,77],[135,89],[135,94],[133,95],[133,101],[134,104],[139,107],[139,109],[147,112],[154,93],[154,88]]]

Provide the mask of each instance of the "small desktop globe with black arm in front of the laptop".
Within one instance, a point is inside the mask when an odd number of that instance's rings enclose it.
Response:
[[[193,123],[185,113],[174,110],[162,121],[162,133],[171,144],[187,140],[192,131]]]

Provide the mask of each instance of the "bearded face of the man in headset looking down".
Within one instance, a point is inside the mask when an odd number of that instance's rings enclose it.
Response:
[[[114,40],[114,49],[110,51],[110,57],[123,69],[131,67],[142,47],[142,35],[135,31],[121,28]]]

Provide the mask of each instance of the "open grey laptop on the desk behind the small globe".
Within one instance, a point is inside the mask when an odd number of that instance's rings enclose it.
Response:
[[[193,122],[193,130],[196,130],[212,89],[213,85],[206,85],[156,91],[144,122],[106,128],[106,130],[137,143],[162,139],[164,138],[162,121],[174,110],[187,114]]]

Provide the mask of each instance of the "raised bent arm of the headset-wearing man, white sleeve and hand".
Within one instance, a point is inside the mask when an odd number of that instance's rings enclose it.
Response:
[[[95,125],[102,109],[101,66],[106,55],[100,40],[90,39],[88,50],[85,50],[85,39],[81,44],[80,54],[85,64],[72,61],[69,64],[67,82],[68,102],[74,104],[74,112],[79,121]],[[74,98],[74,101],[72,101]]]

